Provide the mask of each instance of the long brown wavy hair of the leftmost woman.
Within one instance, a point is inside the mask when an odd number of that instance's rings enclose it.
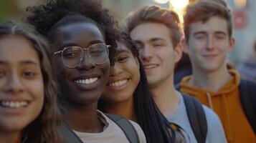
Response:
[[[44,104],[39,117],[23,130],[22,140],[26,143],[60,143],[62,137],[57,132],[60,124],[60,112],[57,109],[56,86],[52,80],[52,71],[47,54],[48,43],[34,27],[28,24],[5,21],[0,24],[0,39],[9,35],[22,35],[32,41],[37,51],[44,80]]]

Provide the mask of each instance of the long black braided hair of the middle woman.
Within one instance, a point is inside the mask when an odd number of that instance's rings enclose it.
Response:
[[[148,81],[146,78],[146,73],[143,69],[143,64],[138,58],[138,50],[133,44],[132,39],[128,34],[121,33],[119,41],[121,44],[124,44],[132,52],[133,56],[136,57],[139,61],[139,68],[141,79],[138,82],[138,86],[133,92],[133,105],[135,107],[135,114],[137,117],[137,123],[143,129],[143,132],[146,135],[146,140],[148,143],[170,143],[175,141],[175,133],[169,127],[169,122],[161,114],[156,103],[151,96],[149,91]],[[104,101],[100,99],[98,108],[102,111],[104,109]]]

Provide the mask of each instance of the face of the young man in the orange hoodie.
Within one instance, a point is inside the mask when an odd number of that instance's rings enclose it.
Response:
[[[198,21],[190,25],[189,40],[184,47],[193,69],[212,72],[226,66],[226,56],[233,46],[234,39],[229,38],[227,21],[212,16],[205,23]]]

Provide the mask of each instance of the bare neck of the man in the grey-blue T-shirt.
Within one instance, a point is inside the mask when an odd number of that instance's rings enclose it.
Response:
[[[179,92],[174,88],[174,78],[170,77],[156,87],[150,87],[153,99],[165,116],[176,112],[179,107]]]

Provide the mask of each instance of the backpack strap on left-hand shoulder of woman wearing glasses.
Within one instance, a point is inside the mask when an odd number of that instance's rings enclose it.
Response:
[[[82,140],[80,137],[75,134],[67,125],[64,123],[61,124],[61,126],[58,128],[60,134],[62,134],[62,137],[64,138],[65,143],[82,143]]]

